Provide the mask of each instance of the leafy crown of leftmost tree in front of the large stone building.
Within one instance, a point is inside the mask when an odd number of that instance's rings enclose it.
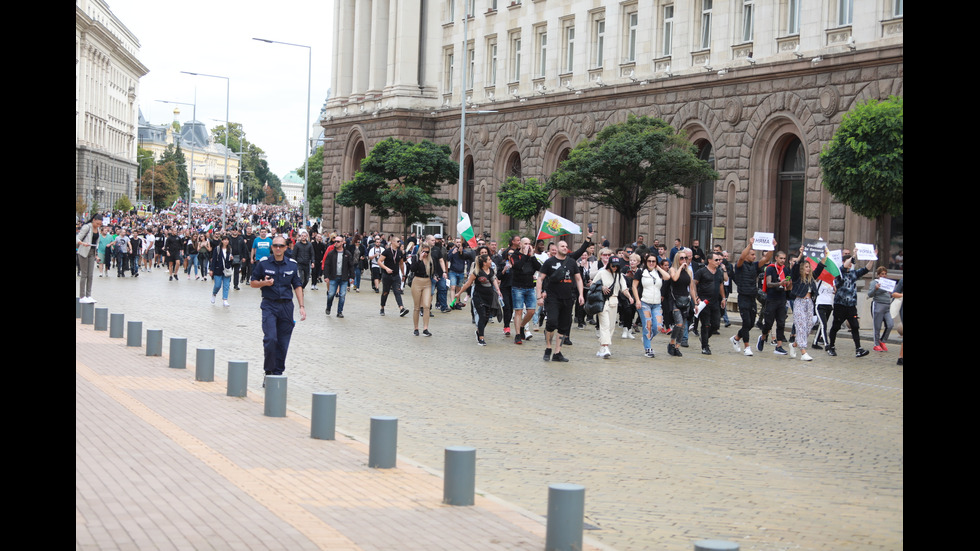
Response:
[[[340,186],[337,203],[371,205],[371,212],[382,220],[400,215],[407,232],[413,223],[428,221],[431,207],[456,204],[455,199],[435,196],[440,182],[453,185],[458,178],[459,164],[449,155],[449,146],[428,140],[382,140],[361,161],[354,179]]]

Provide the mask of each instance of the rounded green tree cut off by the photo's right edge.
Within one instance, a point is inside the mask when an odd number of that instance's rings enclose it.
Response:
[[[896,96],[858,103],[820,153],[824,187],[854,212],[875,220],[877,239],[884,236],[885,215],[901,215],[905,202],[904,113],[904,100]],[[888,243],[879,244],[887,258]]]

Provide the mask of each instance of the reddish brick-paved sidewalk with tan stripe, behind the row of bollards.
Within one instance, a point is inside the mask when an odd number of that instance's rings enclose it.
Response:
[[[145,341],[77,319],[75,339],[76,549],[544,548],[540,517],[485,495],[443,505],[434,473],[368,468],[365,443],[314,440],[309,419],[265,417],[261,396],[228,397]]]

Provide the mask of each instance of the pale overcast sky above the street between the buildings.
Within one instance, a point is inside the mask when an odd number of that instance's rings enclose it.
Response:
[[[191,120],[193,107],[156,100],[194,103],[197,120],[208,129],[227,117],[242,123],[245,138],[265,150],[280,178],[301,166],[306,150],[306,48],[267,44],[267,38],[312,47],[310,124],[315,125],[330,87],[332,0],[106,0],[140,42],[140,61],[150,72],[140,79],[139,106],[152,124]],[[319,132],[311,130],[311,137]]]

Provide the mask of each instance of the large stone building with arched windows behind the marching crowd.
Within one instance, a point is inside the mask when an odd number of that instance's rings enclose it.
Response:
[[[400,231],[334,196],[389,136],[447,144],[458,161],[465,88],[469,109],[496,111],[467,115],[462,147],[462,208],[494,238],[517,228],[497,208],[508,176],[547,178],[630,114],[685,131],[720,179],[658,197],[628,235],[728,250],[755,231],[779,248],[874,237],[823,188],[819,153],[856,102],[904,95],[903,0],[338,0],[334,15],[325,228]],[[558,197],[552,210],[616,244],[611,209]],[[453,234],[457,212],[433,222]]]

